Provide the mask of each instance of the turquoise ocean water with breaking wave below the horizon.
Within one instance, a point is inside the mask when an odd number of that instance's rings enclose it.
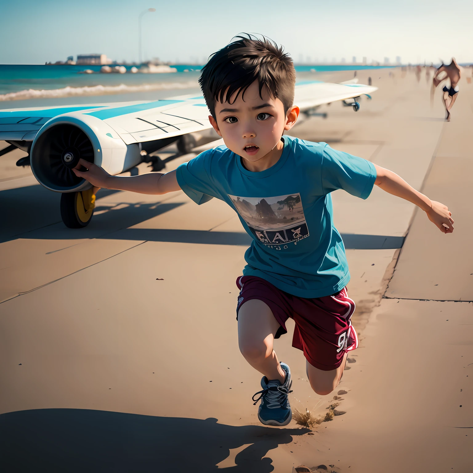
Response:
[[[5,65],[0,64],[0,108],[64,105],[69,103],[156,100],[171,95],[199,92],[202,66],[175,65],[177,72],[143,74],[100,73],[101,66]],[[381,69],[384,66],[304,65],[296,66],[298,76],[307,79],[316,73],[338,70]],[[85,74],[91,69],[93,74]],[[186,70],[184,72],[184,70]],[[100,98],[98,98],[100,97]]]

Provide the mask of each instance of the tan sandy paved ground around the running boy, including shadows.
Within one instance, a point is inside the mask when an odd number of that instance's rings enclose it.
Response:
[[[377,188],[367,201],[333,194],[360,347],[319,396],[291,335],[276,341],[293,409],[344,412],[312,431],[256,418],[261,375],[238,351],[235,320],[249,240],[233,210],[182,192],[101,191],[88,228],[70,230],[59,195],[14,166],[24,154],[0,158],[4,471],[472,471],[472,86],[444,123],[424,76],[363,71],[360,82],[368,75],[379,90],[357,114],[333,103],[292,134],[402,175],[451,208],[455,233]]]

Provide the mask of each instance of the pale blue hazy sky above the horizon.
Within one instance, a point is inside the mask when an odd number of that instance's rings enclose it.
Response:
[[[473,1],[0,0],[0,63],[44,64],[81,53],[202,63],[241,32],[263,34],[296,63],[387,57],[473,62]]]

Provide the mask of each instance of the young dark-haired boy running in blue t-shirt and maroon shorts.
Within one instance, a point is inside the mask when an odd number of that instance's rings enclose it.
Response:
[[[289,366],[273,340],[294,319],[293,346],[303,350],[307,377],[317,394],[339,383],[349,350],[357,347],[350,317],[350,280],[343,242],[333,226],[330,193],[344,189],[366,199],[376,184],[418,205],[444,233],[451,212],[398,175],[369,161],[284,135],[297,121],[296,74],[282,48],[240,37],[215,53],[200,84],[210,123],[225,146],[204,151],[177,170],[133,177],[108,175],[81,160],[76,175],[97,187],[146,194],[182,189],[197,204],[212,197],[236,210],[253,241],[245,253],[237,304],[238,341],[248,363],[263,374],[258,417],[266,425],[291,420]]]

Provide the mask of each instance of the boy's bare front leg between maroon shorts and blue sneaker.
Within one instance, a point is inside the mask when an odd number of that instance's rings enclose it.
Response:
[[[273,350],[280,327],[271,309],[261,300],[251,299],[238,310],[238,345],[246,361],[268,379],[284,383],[285,372]]]

